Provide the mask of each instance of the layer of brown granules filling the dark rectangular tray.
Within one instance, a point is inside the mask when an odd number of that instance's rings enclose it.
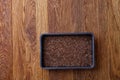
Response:
[[[47,36],[43,43],[44,66],[91,66],[91,36]]]

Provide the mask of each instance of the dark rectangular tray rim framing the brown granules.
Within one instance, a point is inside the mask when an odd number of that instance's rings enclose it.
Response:
[[[43,51],[43,41],[44,41],[44,37],[47,36],[91,36],[92,37],[92,65],[91,66],[59,66],[59,67],[48,67],[48,66],[44,66],[44,61],[43,61],[43,55],[44,55],[44,51]],[[92,69],[95,66],[95,53],[94,53],[94,34],[91,32],[81,32],[81,33],[46,33],[46,34],[41,34],[40,36],[40,66],[43,69]]]

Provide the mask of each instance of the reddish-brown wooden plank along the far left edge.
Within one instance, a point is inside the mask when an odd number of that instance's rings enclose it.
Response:
[[[0,0],[0,80],[13,80],[11,0]]]

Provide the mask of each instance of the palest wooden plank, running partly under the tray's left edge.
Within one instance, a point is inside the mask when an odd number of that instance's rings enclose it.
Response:
[[[37,31],[37,50],[40,53],[40,35],[48,32],[48,13],[47,0],[36,0],[36,31]],[[40,80],[49,80],[49,71],[40,68],[38,59],[38,74]]]

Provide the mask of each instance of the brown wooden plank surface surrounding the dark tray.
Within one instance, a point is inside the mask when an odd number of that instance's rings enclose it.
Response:
[[[41,69],[50,32],[93,32],[96,67]],[[0,80],[120,80],[120,0],[0,0]]]

